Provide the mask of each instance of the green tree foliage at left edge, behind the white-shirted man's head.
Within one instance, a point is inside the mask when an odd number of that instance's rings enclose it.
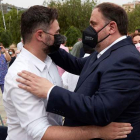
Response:
[[[5,47],[9,47],[8,45],[12,43],[17,44],[20,42],[20,19],[22,12],[23,11],[17,11],[17,9],[13,8],[7,14],[4,14],[6,23],[5,31],[2,13],[0,11],[0,42],[2,42]],[[5,41],[7,41],[7,43]]]

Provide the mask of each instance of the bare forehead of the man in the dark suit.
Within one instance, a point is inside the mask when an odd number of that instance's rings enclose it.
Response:
[[[94,21],[94,22],[102,22],[102,21],[104,21],[103,15],[102,15],[102,13],[100,12],[100,10],[98,8],[95,8],[92,11],[90,21]]]

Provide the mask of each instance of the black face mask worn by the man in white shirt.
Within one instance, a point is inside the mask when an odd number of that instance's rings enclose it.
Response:
[[[43,31],[43,32],[45,32],[45,31]],[[47,33],[47,32],[45,32],[45,33],[50,34],[50,33]],[[50,35],[52,35],[52,34],[50,34]],[[47,48],[44,49],[44,52],[46,54],[58,51],[58,49],[60,48],[60,45],[63,43],[63,37],[62,37],[61,34],[55,34],[53,36],[54,36],[53,45],[47,45],[46,43],[43,42],[47,46]]]

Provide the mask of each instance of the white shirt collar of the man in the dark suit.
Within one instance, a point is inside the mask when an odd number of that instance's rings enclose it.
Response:
[[[116,44],[117,42],[119,42],[119,41],[121,41],[121,40],[123,40],[123,39],[125,39],[125,38],[127,38],[126,35],[125,35],[125,36],[119,37],[119,38],[118,38],[117,40],[115,40],[111,45],[109,45],[108,47],[106,47],[105,49],[103,49],[100,53],[98,53],[97,58],[100,58],[101,55],[103,55],[103,53],[105,53],[109,48],[111,48],[114,44]]]

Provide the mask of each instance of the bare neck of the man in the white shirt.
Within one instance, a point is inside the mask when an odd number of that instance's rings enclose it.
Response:
[[[25,44],[24,48],[27,49],[33,55],[35,55],[41,61],[43,62],[45,61],[47,55],[43,52],[43,50],[40,49],[41,46],[29,43],[29,44]]]

